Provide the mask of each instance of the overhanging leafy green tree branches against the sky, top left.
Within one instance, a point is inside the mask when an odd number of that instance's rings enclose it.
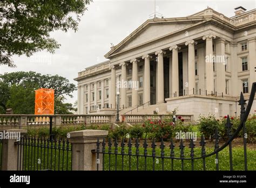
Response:
[[[60,44],[50,37],[55,30],[78,30],[80,17],[92,0],[2,0],[0,2],[1,61],[15,67],[12,55],[47,50]]]

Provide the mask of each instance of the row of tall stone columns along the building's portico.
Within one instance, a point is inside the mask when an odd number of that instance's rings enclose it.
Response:
[[[206,57],[208,59],[213,57],[213,43],[212,39],[215,39],[213,34],[208,34],[203,37],[206,40]],[[188,94],[193,94],[193,89],[196,89],[196,74],[195,74],[195,55],[194,55],[194,45],[197,45],[197,41],[188,40],[185,43],[188,46]],[[225,40],[219,39],[216,43],[216,49],[218,55],[225,55]],[[179,61],[178,61],[178,51],[180,47],[178,45],[171,46],[169,48],[172,51],[172,58],[170,58],[170,97],[173,93],[179,96]],[[164,103],[164,54],[166,52],[163,50],[157,51],[157,104]],[[150,101],[150,54],[145,54],[142,59],[145,60],[144,65],[144,102]],[[132,59],[132,81],[138,81],[138,59]],[[121,80],[126,81],[126,62],[119,64],[122,68]],[[206,66],[206,87],[208,94],[214,90],[214,78],[213,78],[213,61],[205,61]],[[225,68],[224,64],[217,64],[217,92],[225,92]],[[111,89],[110,89],[110,104],[116,106],[116,68],[111,67]],[[121,100],[120,105],[126,107],[126,88],[120,88]],[[138,105],[138,90],[132,89],[132,106]]]

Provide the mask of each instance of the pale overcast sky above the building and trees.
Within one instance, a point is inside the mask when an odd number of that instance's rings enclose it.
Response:
[[[164,17],[185,17],[207,6],[223,13],[227,17],[234,16],[234,8],[243,6],[248,10],[256,8],[256,0],[250,1],[183,1],[183,0],[156,0],[157,12]],[[79,23],[75,33],[56,31],[52,33],[61,47],[55,54],[38,52],[32,57],[14,57],[17,68],[0,66],[0,74],[4,72],[35,71],[42,74],[58,74],[73,79],[85,67],[105,61],[104,55],[110,51],[111,43],[117,45],[127,35],[143,24],[149,15],[154,12],[154,1],[151,0],[95,0],[88,7],[88,11]],[[29,24],[29,23],[28,23]],[[156,31],[157,32],[157,31]],[[77,92],[68,102],[77,100]]]

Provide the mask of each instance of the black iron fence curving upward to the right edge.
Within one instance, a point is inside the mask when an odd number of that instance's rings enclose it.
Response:
[[[103,170],[156,170],[156,164],[160,164],[157,167],[158,170],[174,170],[174,161],[176,161],[176,165],[180,165],[181,170],[184,170],[185,162],[187,170],[194,170],[195,165],[197,165],[197,170],[199,170],[198,165],[201,165],[201,170],[206,170],[207,161],[209,161],[209,159],[214,160],[215,170],[219,170],[219,152],[224,150],[226,147],[228,147],[229,168],[230,170],[233,170],[232,141],[235,137],[237,137],[241,129],[244,145],[244,170],[247,170],[247,137],[245,122],[250,114],[255,91],[256,82],[253,83],[252,92],[247,107],[245,107],[246,100],[244,99],[244,95],[241,93],[239,100],[239,105],[241,106],[240,125],[238,126],[237,130],[235,130],[233,135],[231,134],[232,123],[230,121],[230,117],[227,116],[226,130],[228,140],[221,145],[221,147],[219,146],[218,129],[215,130],[214,151],[207,154],[204,135],[201,135],[199,142],[201,146],[199,156],[195,155],[196,152],[198,154],[198,149],[196,150],[194,141],[192,139],[190,140],[189,145],[190,150],[185,150],[184,141],[183,139],[180,140],[179,156],[177,156],[177,154],[174,152],[175,145],[173,140],[171,140],[170,145],[168,145],[169,153],[166,153],[165,148],[167,147],[165,146],[163,138],[161,139],[159,148],[157,147],[155,140],[152,140],[150,147],[148,147],[149,145],[147,140],[144,140],[144,143],[141,144],[139,143],[139,140],[136,139],[134,147],[132,147],[131,138],[129,138],[127,145],[125,143],[125,138],[123,138],[121,143],[118,143],[117,140],[114,140],[114,143],[112,143],[111,139],[107,143],[105,140],[100,143],[98,140],[96,151],[92,151],[97,155],[97,170],[99,170],[99,165],[103,165]],[[139,147],[140,144],[143,145],[143,147]],[[102,164],[100,164],[100,155],[103,155]],[[188,164],[188,162],[190,162],[190,164]],[[189,168],[187,165],[190,165]]]

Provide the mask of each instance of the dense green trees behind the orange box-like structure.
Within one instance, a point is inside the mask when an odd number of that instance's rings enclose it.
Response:
[[[12,108],[15,114],[34,114],[35,90],[55,89],[55,114],[70,114],[71,103],[64,103],[65,96],[72,96],[77,87],[59,75],[42,75],[36,72],[0,74],[0,113]]]

